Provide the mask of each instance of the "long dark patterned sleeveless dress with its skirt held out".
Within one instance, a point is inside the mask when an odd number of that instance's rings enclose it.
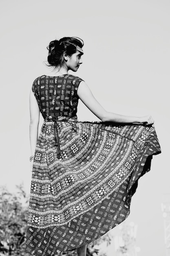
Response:
[[[77,120],[77,76],[40,76],[44,123],[33,160],[25,252],[53,255],[124,221],[139,178],[161,153],[155,128]]]

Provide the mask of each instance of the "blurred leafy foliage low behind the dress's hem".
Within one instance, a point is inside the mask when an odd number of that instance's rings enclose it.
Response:
[[[26,225],[29,197],[23,185],[16,186],[17,192],[10,193],[6,187],[0,187],[0,256],[26,256]],[[98,254],[97,245],[110,244],[112,238],[105,234],[87,246],[87,256]],[[56,256],[77,256],[76,250],[62,252]]]

